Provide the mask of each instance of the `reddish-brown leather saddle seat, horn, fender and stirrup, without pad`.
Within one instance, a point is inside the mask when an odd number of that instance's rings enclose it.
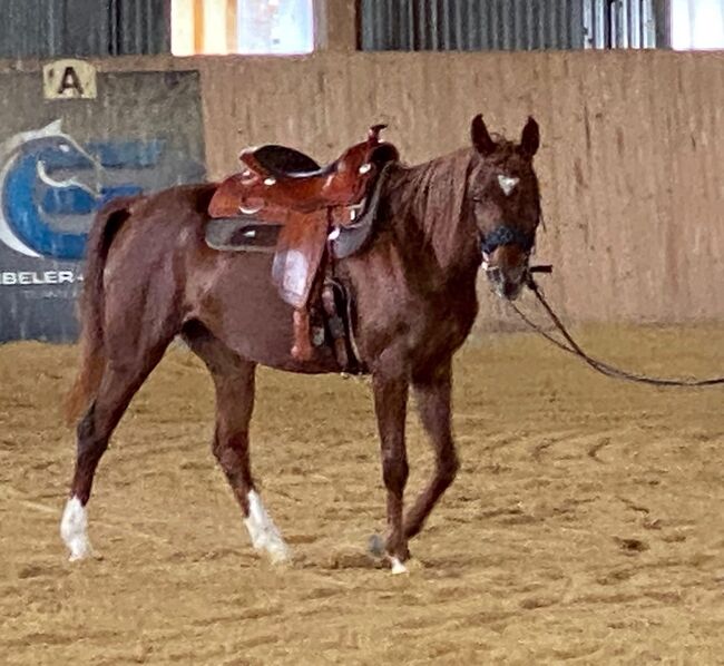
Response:
[[[332,227],[354,224],[384,165],[399,159],[398,149],[380,140],[384,127],[372,126],[364,141],[324,166],[285,146],[246,148],[239,155],[244,170],[223,180],[209,203],[212,217],[281,227],[272,278],[296,311],[293,353],[300,359],[312,353],[304,317],[327,236]]]

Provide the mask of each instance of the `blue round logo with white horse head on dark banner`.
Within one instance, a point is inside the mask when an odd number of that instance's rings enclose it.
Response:
[[[89,214],[141,192],[102,187],[104,166],[62,131],[61,120],[0,144],[0,241],[30,257],[82,258]]]

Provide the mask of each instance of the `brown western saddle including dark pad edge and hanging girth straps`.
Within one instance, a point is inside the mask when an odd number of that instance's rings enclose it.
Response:
[[[211,217],[241,223],[246,236],[278,228],[272,280],[294,308],[292,355],[300,361],[313,353],[310,304],[321,293],[337,362],[348,368],[331,270],[333,259],[358,252],[371,234],[382,183],[399,159],[398,149],[380,140],[385,127],[372,126],[364,141],[324,166],[286,146],[246,148],[244,170],[223,180],[209,203]]]

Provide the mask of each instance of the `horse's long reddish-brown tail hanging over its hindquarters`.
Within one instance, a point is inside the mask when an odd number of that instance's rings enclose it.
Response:
[[[66,399],[66,419],[72,424],[98,392],[106,369],[104,342],[104,268],[110,244],[130,216],[135,197],[119,197],[96,215],[86,246],[84,288],[80,297],[80,369]]]

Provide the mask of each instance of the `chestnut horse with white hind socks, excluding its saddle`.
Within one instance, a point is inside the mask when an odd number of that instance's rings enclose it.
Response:
[[[372,375],[387,489],[387,559],[404,571],[408,540],[450,486],[459,462],[451,433],[451,360],[478,312],[481,263],[500,296],[528,274],[540,219],[532,118],[513,143],[473,118],[472,145],[427,164],[392,166],[373,241],[340,261],[336,277],[354,303],[360,360]],[[177,186],[117,199],[88,238],[81,301],[81,368],[69,396],[77,460],[60,532],[71,559],[90,552],[86,505],[98,462],[128,403],[180,335],[216,389],[213,451],[241,505],[254,548],[288,558],[255,490],[248,429],[258,363],[302,373],[339,372],[331,349],[292,358],[292,308],[271,281],[266,254],[218,252],[205,243],[215,185]],[[427,488],[403,512],[408,480],[405,411],[412,388],[436,452]]]

